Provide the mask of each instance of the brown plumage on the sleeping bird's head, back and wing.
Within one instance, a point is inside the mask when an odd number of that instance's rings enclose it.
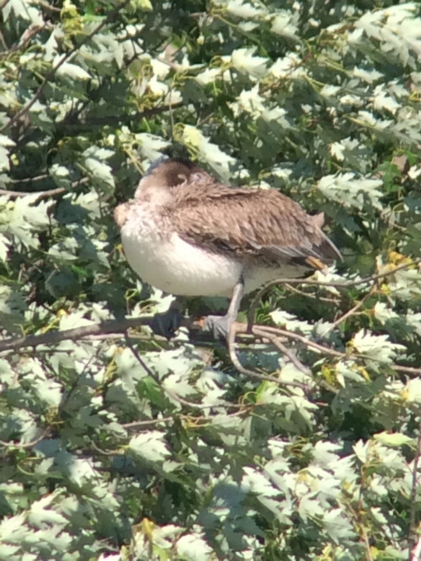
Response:
[[[168,196],[158,197],[157,190]],[[182,240],[212,252],[268,266],[292,263],[314,269],[341,259],[321,230],[323,214],[309,216],[274,189],[218,183],[193,162],[172,159],[152,167],[140,181],[133,204],[142,200],[158,201],[164,231],[177,232]],[[116,221],[121,221],[117,211]]]

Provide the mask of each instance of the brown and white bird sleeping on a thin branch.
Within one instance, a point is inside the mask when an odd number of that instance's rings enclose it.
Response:
[[[217,339],[227,337],[244,294],[342,259],[322,231],[323,213],[310,216],[273,188],[226,185],[189,159],[153,162],[114,218],[126,259],[144,282],[175,296],[231,298],[224,316],[205,319]],[[173,312],[155,332],[171,337]]]

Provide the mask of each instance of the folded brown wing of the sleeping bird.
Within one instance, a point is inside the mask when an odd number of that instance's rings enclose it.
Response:
[[[321,216],[310,217],[276,190],[232,188],[208,174],[175,189],[171,219],[180,237],[193,245],[315,269],[341,259],[320,228]]]

